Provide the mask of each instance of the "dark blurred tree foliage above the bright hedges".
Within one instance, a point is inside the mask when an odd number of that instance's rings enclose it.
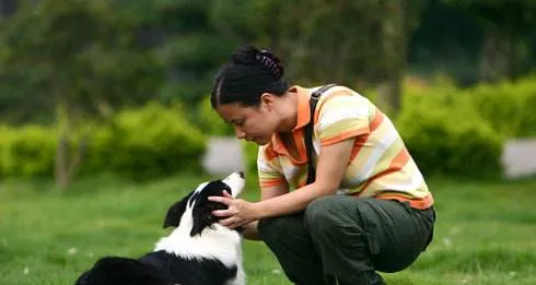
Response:
[[[18,1],[0,19],[0,116],[53,121],[59,99],[90,119],[152,98],[197,105],[246,41],[281,55],[290,81],[369,88],[401,78],[408,54],[411,72],[474,83],[493,32],[513,43],[499,51],[520,75],[534,69],[534,11],[521,0]]]

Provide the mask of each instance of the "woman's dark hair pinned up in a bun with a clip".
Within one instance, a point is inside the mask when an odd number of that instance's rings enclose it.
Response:
[[[276,55],[246,45],[233,52],[215,76],[210,95],[212,108],[241,103],[258,106],[265,92],[282,96],[289,85],[282,80],[283,66]]]

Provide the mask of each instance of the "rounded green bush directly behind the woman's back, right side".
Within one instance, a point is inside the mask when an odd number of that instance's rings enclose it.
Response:
[[[459,93],[448,84],[406,86],[395,124],[424,175],[498,176],[503,136]]]

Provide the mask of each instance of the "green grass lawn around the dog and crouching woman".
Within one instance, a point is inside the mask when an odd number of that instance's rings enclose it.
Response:
[[[72,284],[98,257],[137,257],[171,229],[167,206],[207,177],[147,185],[113,178],[77,182],[58,193],[46,181],[0,186],[0,284]],[[435,238],[389,284],[536,284],[536,181],[455,182],[430,187]],[[257,195],[253,190],[246,199]],[[260,242],[244,242],[248,284],[290,284]]]

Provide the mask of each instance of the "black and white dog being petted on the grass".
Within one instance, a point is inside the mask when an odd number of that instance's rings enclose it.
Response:
[[[77,285],[243,285],[242,238],[211,214],[225,205],[208,200],[228,191],[237,197],[242,173],[201,183],[167,211],[164,228],[176,227],[154,251],[139,258],[101,258]]]

